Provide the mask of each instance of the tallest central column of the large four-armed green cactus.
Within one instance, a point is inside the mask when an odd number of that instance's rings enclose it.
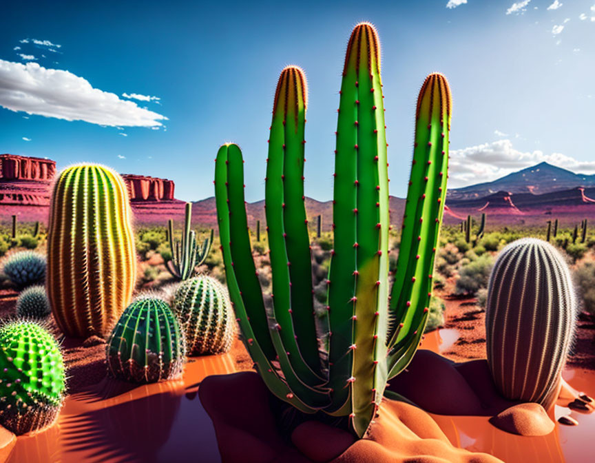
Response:
[[[357,26],[341,89],[329,277],[331,387],[342,390],[333,394],[333,405],[351,402],[353,429],[360,437],[373,419],[388,373],[388,175],[379,53],[373,26]]]

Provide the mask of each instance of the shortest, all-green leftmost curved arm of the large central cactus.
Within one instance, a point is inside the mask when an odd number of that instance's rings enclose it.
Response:
[[[295,375],[274,316],[270,322],[267,319],[247,232],[242,163],[237,145],[220,148],[216,158],[215,196],[229,296],[244,344],[269,389],[301,411],[313,413],[328,402],[328,393],[308,387]],[[278,375],[278,367],[284,379]]]

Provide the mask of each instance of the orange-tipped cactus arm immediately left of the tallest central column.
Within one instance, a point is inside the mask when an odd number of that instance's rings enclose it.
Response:
[[[322,384],[312,298],[312,269],[304,207],[306,80],[285,68],[275,92],[269,138],[265,207],[273,307],[284,350],[307,384]]]

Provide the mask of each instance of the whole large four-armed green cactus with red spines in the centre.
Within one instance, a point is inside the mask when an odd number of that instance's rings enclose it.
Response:
[[[388,304],[388,163],[380,48],[355,27],[344,64],[335,150],[335,249],[326,310],[315,312],[304,207],[306,79],[280,76],[267,159],[266,212],[273,310],[264,308],[244,206],[242,153],[223,145],[215,189],[227,285],[247,349],[275,395],[306,413],[348,416],[362,437],[386,381],[410,362],[427,320],[446,196],[451,99],[441,74],[426,78],[397,274]],[[317,320],[315,320],[317,318]],[[322,338],[317,326],[328,327]],[[326,344],[326,351],[320,352]]]

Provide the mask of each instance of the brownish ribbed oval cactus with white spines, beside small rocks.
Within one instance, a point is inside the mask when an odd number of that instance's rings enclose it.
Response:
[[[552,245],[523,238],[501,251],[488,285],[486,333],[492,378],[505,398],[551,406],[575,317],[570,271]]]

